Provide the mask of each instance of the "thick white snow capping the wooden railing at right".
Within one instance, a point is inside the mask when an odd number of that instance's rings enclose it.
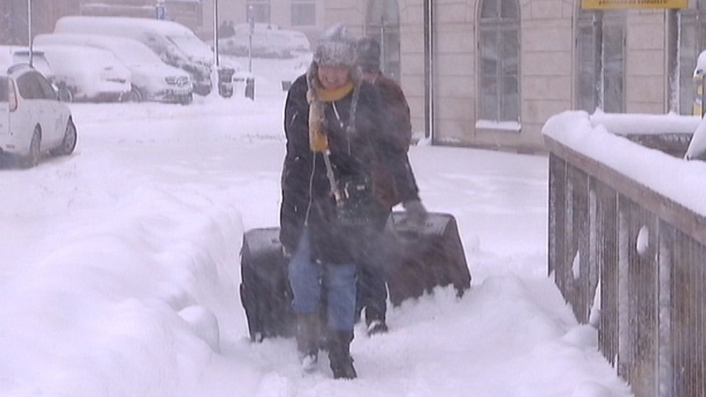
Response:
[[[589,116],[570,111],[547,120],[542,134],[628,179],[706,216],[706,162],[677,159],[616,135],[693,133],[700,119],[678,115]],[[620,190],[620,186],[616,186]]]

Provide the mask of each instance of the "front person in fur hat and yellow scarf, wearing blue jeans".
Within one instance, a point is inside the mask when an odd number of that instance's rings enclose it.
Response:
[[[357,376],[349,346],[358,264],[377,243],[374,164],[389,144],[379,93],[361,78],[355,43],[342,25],[325,33],[290,87],[284,117],[280,241],[290,254],[297,349],[310,368],[325,331],[337,379]]]

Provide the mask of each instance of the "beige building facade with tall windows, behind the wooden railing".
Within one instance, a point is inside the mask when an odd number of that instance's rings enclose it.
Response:
[[[690,114],[706,49],[704,0],[627,10],[576,0],[329,0],[325,17],[384,37],[385,68],[399,76],[416,132],[520,152],[542,151],[542,125],[564,110]]]

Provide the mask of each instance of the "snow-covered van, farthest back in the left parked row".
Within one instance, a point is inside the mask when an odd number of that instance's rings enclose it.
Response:
[[[65,16],[56,22],[54,32],[132,38],[152,49],[164,63],[186,70],[197,94],[207,95],[213,88],[213,51],[179,23],[117,16]]]

